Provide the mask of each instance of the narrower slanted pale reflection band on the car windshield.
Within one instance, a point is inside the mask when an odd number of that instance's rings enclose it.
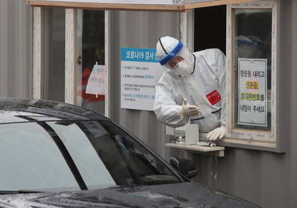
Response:
[[[67,148],[88,189],[107,188],[116,185],[84,133],[85,131],[82,131],[75,123],[71,125],[64,125],[61,122],[46,123]],[[83,123],[88,125],[88,122]],[[85,128],[88,127],[91,128],[89,125]]]

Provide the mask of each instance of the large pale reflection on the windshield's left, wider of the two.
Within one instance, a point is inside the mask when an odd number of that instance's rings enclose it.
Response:
[[[36,123],[0,126],[0,190],[80,190],[49,134]]]

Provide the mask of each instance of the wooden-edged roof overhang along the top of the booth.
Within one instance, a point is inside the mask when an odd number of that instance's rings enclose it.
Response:
[[[27,0],[27,4],[40,7],[98,10],[188,12],[192,8],[247,1],[254,0]]]

